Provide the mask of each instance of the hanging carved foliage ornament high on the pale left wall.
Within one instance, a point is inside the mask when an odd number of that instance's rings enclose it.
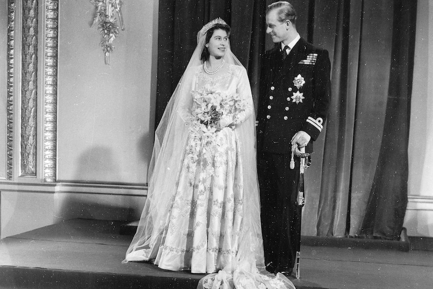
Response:
[[[104,52],[105,64],[110,64],[110,53],[114,50],[113,41],[119,34],[116,14],[121,29],[125,30],[121,10],[123,0],[90,0],[90,3],[96,8],[90,27],[98,24],[98,30],[103,38],[100,42],[100,46]]]

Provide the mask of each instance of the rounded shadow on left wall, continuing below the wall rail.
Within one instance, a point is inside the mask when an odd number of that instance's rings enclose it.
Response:
[[[81,153],[76,164],[74,180],[92,184],[119,184],[122,182],[120,166],[112,149],[105,146],[93,146]],[[93,185],[92,185],[93,186]],[[140,218],[144,207],[144,196],[119,193],[99,194],[78,191],[57,191],[54,194],[55,223],[64,220],[83,218],[97,220],[133,221]]]

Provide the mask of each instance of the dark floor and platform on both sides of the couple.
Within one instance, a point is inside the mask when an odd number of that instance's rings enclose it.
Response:
[[[122,264],[122,224],[74,219],[0,240],[0,288],[195,288],[203,275]],[[304,243],[297,288],[433,287],[433,251]]]

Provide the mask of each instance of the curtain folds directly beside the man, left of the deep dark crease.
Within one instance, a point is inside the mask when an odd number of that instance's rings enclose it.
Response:
[[[330,55],[334,55],[334,59],[332,103],[326,135],[322,136],[323,152],[326,153],[323,154],[322,166],[311,167],[313,175],[321,175],[321,178],[312,188],[315,189],[313,197],[318,205],[308,208],[318,210],[314,211],[318,213],[317,221],[310,224],[310,230],[317,228],[319,236],[341,237],[345,236],[348,218],[362,3],[333,1],[324,8],[316,7],[316,10],[316,22],[319,19],[325,22],[317,25],[326,29],[316,33],[315,40],[331,49],[333,53]],[[335,31],[335,37],[328,39],[331,31]]]

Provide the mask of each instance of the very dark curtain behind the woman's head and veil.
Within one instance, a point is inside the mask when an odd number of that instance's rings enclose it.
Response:
[[[260,55],[265,50],[266,5],[266,0],[159,1],[155,127],[194,51],[197,32],[218,17],[231,26],[232,51],[247,68],[253,94],[257,95]]]

